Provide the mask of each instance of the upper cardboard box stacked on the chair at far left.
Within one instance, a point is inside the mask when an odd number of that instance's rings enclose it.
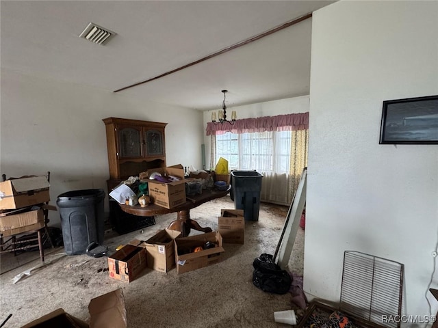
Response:
[[[13,210],[49,202],[49,187],[45,176],[0,182],[0,209]]]

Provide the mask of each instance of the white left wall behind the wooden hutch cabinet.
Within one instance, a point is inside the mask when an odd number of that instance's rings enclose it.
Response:
[[[103,118],[166,122],[168,165],[201,165],[202,113],[96,88],[1,70],[0,172],[51,172],[51,204],[75,189],[103,188],[110,177]],[[184,151],[181,151],[183,147]],[[105,204],[107,202],[105,201]],[[51,211],[51,224],[59,223]]]

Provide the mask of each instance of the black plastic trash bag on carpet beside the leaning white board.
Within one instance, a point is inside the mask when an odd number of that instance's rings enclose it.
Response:
[[[292,277],[272,260],[272,255],[261,254],[253,262],[253,284],[263,292],[285,294],[292,284]]]

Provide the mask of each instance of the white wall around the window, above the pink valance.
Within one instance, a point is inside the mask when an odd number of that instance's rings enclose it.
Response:
[[[205,157],[206,157],[206,169],[214,167],[216,163],[210,165],[210,152],[211,152],[211,138],[206,135],[205,129],[207,128],[207,122],[211,122],[211,113],[216,112],[218,117],[218,109],[215,111],[204,112],[204,143],[205,143]],[[296,98],[287,98],[281,100],[272,100],[267,102],[259,102],[252,105],[242,105],[235,107],[228,107],[227,116],[231,117],[231,111],[236,111],[237,120],[243,118],[261,118],[263,116],[275,116],[291,113],[307,113],[309,111],[309,96],[300,96]],[[201,168],[201,167],[199,167]]]

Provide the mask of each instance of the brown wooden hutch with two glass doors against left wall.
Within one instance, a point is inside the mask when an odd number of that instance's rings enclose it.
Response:
[[[107,131],[110,180],[120,182],[148,169],[166,167],[167,123],[125,118],[105,118],[103,122]]]

